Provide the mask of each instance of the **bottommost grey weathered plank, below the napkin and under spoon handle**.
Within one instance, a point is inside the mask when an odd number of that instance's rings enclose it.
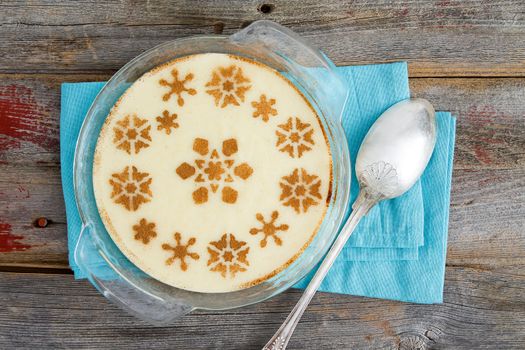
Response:
[[[299,298],[288,291],[227,312],[152,327],[68,275],[0,273],[0,348],[260,349]],[[290,349],[522,349],[525,275],[519,266],[446,271],[445,303],[415,305],[319,293]]]

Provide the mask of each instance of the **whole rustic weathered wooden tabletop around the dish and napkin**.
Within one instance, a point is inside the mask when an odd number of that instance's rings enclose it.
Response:
[[[104,80],[167,40],[263,18],[339,65],[407,60],[413,95],[458,117],[445,302],[319,293],[290,348],[525,348],[522,0],[2,0],[1,349],[260,349],[278,328],[300,292],[156,328],[75,281],[59,171],[61,82]]]

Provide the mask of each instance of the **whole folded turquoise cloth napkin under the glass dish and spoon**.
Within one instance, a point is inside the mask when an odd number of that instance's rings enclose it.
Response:
[[[338,71],[351,87],[343,126],[355,159],[362,139],[377,117],[409,97],[407,66],[393,63],[338,67]],[[62,186],[69,261],[76,278],[86,276],[73,259],[81,229],[73,192],[73,156],[85,114],[103,85],[62,84]],[[383,202],[370,211],[323,282],[322,291],[419,303],[442,301],[455,119],[441,112],[437,120],[438,142],[421,181],[399,199]],[[353,174],[352,201],[357,192]],[[309,278],[297,287],[305,286]]]

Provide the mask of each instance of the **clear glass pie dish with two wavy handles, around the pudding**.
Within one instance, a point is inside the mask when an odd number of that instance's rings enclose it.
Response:
[[[100,129],[118,98],[140,76],[174,58],[229,53],[282,72],[312,103],[326,130],[332,153],[332,196],[325,218],[308,248],[285,270],[250,288],[228,293],[178,289],[133,265],[110,238],[93,192],[93,156]],[[165,324],[196,309],[224,310],[260,302],[290,288],[312,270],[331,246],[347,210],[350,159],[341,114],[348,88],[334,64],[290,30],[270,21],[254,22],[231,36],[199,36],[161,44],[136,57],[102,88],[78,137],[74,161],[75,199],[83,228],[74,259],[109,300],[153,324]]]

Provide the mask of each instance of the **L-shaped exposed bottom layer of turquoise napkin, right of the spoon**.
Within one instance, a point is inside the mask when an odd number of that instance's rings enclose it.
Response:
[[[456,119],[448,112],[438,112],[437,124],[436,148],[421,178],[425,243],[418,248],[417,260],[347,261],[339,257],[320,291],[422,304],[443,302]],[[312,275],[296,287],[306,287]]]

